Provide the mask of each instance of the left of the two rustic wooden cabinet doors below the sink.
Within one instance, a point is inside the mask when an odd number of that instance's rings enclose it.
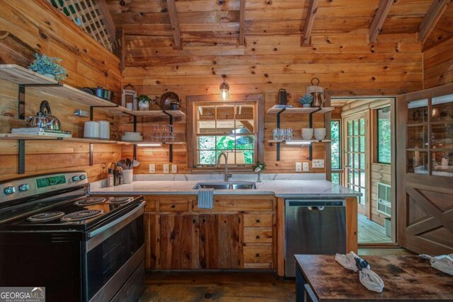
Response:
[[[197,215],[161,215],[161,269],[197,269]]]

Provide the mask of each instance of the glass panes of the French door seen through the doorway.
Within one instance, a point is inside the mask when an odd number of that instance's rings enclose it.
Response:
[[[345,182],[350,189],[362,193],[359,202],[366,207],[365,117],[356,115],[345,119],[345,122]]]

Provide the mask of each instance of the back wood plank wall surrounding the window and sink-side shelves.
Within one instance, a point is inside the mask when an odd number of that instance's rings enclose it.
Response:
[[[192,36],[183,50],[173,50],[172,37],[165,32],[144,36],[137,29],[127,35],[127,30],[123,83],[132,83],[138,94],[174,91],[183,99],[183,111],[187,95],[217,94],[222,79],[232,94],[263,93],[265,110],[277,102],[279,88],[287,90],[290,104],[299,105],[297,99],[314,77],[331,95],[397,95],[423,88],[422,51],[416,34],[379,35],[375,44],[369,44],[367,30],[318,34],[312,37],[311,47],[300,47],[300,35],[270,36],[264,31],[246,37],[245,47],[236,46],[234,39]],[[275,118],[265,115],[265,139],[272,135]],[[176,124],[181,137],[185,137],[184,122]],[[300,135],[300,129],[308,127],[308,117],[285,115],[282,127],[292,127]],[[315,127],[323,127],[323,122],[318,120]],[[145,135],[151,129],[144,126]],[[314,158],[324,158],[322,145],[314,149]],[[124,146],[123,153],[131,155],[132,148]],[[144,165],[137,173],[148,173],[148,163],[155,163],[156,173],[161,173],[162,165],[168,163],[162,149],[139,149],[138,154]],[[173,156],[178,173],[188,172],[185,146],[177,146]],[[307,156],[307,148],[284,146],[282,161],[275,161],[275,146],[265,146],[268,173],[294,173],[294,162],[306,161]],[[310,172],[323,169],[314,170],[310,164]]]

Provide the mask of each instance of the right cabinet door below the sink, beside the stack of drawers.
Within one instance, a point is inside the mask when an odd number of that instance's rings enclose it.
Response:
[[[201,269],[243,268],[241,214],[200,215]]]

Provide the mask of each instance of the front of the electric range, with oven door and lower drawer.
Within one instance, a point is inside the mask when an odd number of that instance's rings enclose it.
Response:
[[[86,301],[110,301],[144,261],[144,204],[86,233]]]

